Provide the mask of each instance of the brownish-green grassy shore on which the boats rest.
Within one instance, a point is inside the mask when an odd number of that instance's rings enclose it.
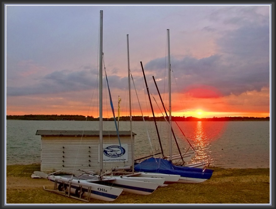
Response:
[[[213,176],[202,183],[176,183],[159,187],[150,195],[126,192],[115,201],[91,199],[89,203],[43,190],[53,189],[46,179],[32,179],[39,164],[7,166],[8,204],[269,204],[269,168],[214,170]]]

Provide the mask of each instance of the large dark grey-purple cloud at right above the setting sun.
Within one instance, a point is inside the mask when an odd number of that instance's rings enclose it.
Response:
[[[202,97],[195,94],[195,89],[209,86],[217,89],[221,96],[227,96],[260,91],[269,86],[269,25],[248,23],[224,34],[216,44],[219,51],[209,57],[171,57],[178,91],[188,92],[194,88],[192,95]],[[160,72],[164,72],[164,66],[165,58],[158,58],[145,68],[151,74],[163,76]]]

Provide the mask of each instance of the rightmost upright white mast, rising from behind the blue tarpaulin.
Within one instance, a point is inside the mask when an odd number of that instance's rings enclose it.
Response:
[[[170,161],[172,161],[172,144],[171,144],[171,89],[170,89],[170,29],[167,29],[168,36],[168,71],[169,71],[169,143],[170,143]]]

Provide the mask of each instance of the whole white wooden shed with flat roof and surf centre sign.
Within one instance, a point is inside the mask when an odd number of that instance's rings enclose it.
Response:
[[[41,171],[59,170],[100,171],[99,131],[88,130],[37,130],[41,135]],[[134,141],[135,133],[132,132]],[[103,169],[131,166],[131,132],[103,131]]]

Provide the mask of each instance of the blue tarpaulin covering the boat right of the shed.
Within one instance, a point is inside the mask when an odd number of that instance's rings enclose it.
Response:
[[[136,172],[164,173],[199,179],[210,179],[213,174],[211,169],[175,166],[168,160],[154,157],[137,163],[134,170]]]

